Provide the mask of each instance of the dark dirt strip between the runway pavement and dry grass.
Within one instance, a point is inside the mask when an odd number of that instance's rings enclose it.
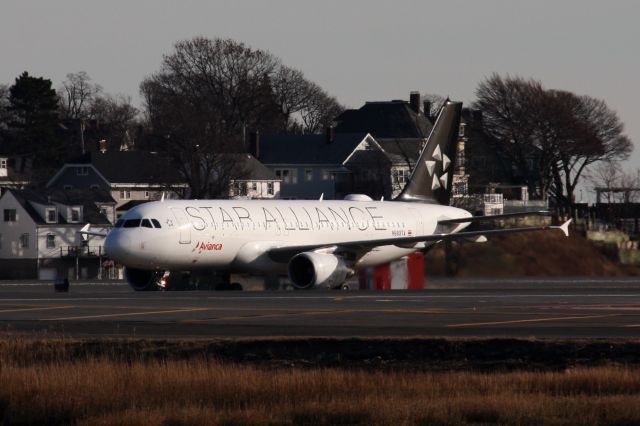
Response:
[[[421,371],[558,371],[640,367],[640,340],[264,338],[207,340],[21,339],[0,335],[0,362],[206,359],[265,367]]]

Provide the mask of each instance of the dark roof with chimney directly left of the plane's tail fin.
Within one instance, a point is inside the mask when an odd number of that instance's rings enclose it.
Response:
[[[367,102],[335,119],[336,133],[367,132],[381,138],[426,138],[433,124],[406,101]]]

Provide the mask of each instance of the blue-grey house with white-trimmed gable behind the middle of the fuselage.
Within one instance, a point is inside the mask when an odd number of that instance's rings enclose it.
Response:
[[[390,160],[367,133],[252,135],[253,155],[281,181],[280,197],[343,198],[390,193]]]

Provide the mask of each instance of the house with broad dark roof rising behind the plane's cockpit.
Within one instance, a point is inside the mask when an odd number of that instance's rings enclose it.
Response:
[[[62,168],[49,180],[47,188],[107,191],[116,209],[127,203],[165,198],[183,198],[188,189],[165,157],[144,151],[87,152]],[[115,221],[117,217],[109,217]]]

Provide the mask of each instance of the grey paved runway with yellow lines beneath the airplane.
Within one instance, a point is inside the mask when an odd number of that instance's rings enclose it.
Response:
[[[0,283],[0,334],[34,337],[637,338],[640,279],[435,280],[424,291],[149,292]]]

